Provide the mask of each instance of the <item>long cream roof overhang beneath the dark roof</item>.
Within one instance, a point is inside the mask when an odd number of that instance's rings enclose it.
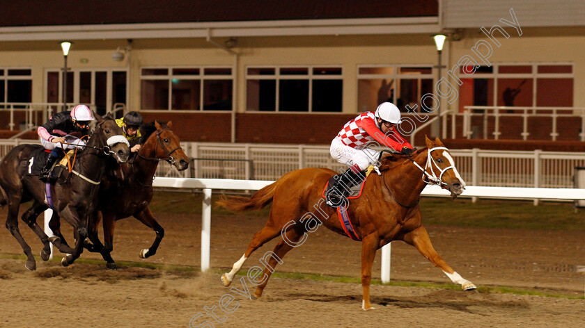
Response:
[[[433,34],[439,31],[437,17],[306,19],[2,27],[0,41]]]

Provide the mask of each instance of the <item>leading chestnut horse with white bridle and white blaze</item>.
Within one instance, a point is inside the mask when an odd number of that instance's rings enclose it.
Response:
[[[352,199],[348,207],[350,221],[361,239],[361,285],[364,289],[363,309],[370,304],[370,280],[374,256],[380,247],[392,240],[403,240],[413,245],[432,264],[463,290],[475,289],[470,281],[463,279],[435,252],[428,233],[421,224],[419,198],[428,183],[439,185],[457,197],[465,188],[453,158],[442,142],[426,138],[427,148],[416,151],[411,159],[392,155],[380,161],[381,175],[370,174],[364,184],[361,197]],[[224,286],[229,286],[250,254],[272,238],[281,235],[283,240],[274,247],[270,261],[265,264],[263,274],[257,272],[258,287],[253,294],[260,297],[276,263],[282,263],[283,256],[290,249],[301,245],[307,231],[312,232],[320,224],[343,236],[345,232],[336,218],[336,209],[325,204],[323,188],[336,172],[322,168],[306,168],[288,172],[279,180],[258,190],[251,198],[226,197],[217,202],[219,206],[232,211],[247,211],[263,208],[272,202],[270,218],[263,229],[258,231],[231,272],[221,276]],[[275,256],[278,258],[275,259]],[[250,279],[250,274],[248,275]]]

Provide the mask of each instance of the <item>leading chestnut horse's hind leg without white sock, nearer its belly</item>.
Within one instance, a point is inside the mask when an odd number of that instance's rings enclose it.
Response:
[[[268,279],[270,279],[270,275],[272,272],[274,272],[276,264],[283,263],[282,258],[286,255],[286,253],[288,253],[288,251],[290,251],[290,249],[296,247],[296,244],[299,242],[302,236],[304,236],[305,232],[306,230],[304,229],[304,224],[295,224],[293,229],[290,229],[284,233],[283,239],[280,241],[280,243],[276,244],[272,252],[267,252],[264,254],[263,258],[260,259],[260,263],[262,263],[265,268],[261,280],[255,281],[260,283],[256,288],[256,292],[254,293],[255,297],[262,296],[262,292],[264,288],[266,288]],[[270,258],[270,260],[266,261],[267,258]]]

